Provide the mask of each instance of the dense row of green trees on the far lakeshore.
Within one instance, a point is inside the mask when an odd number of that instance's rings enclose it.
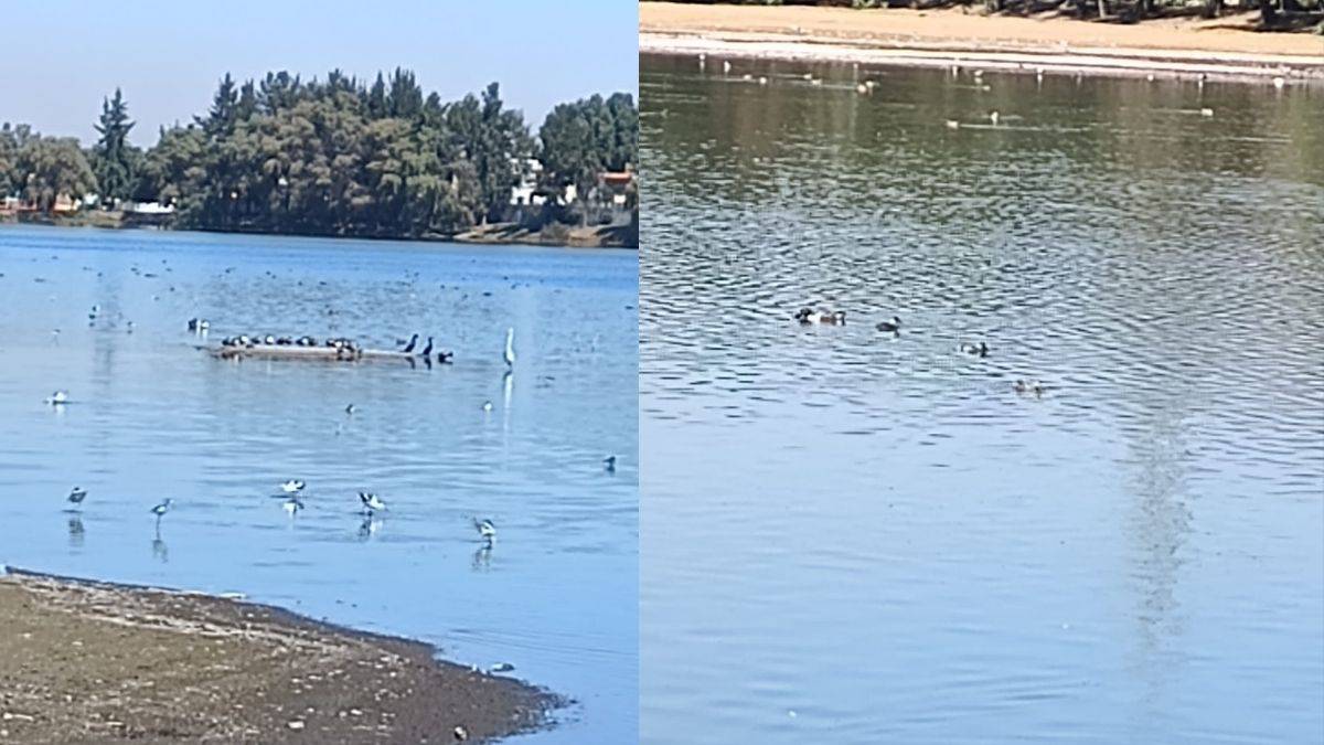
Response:
[[[638,160],[630,94],[561,103],[535,137],[495,82],[444,102],[404,69],[371,85],[339,70],[323,81],[226,74],[205,114],[162,127],[146,150],[128,142],[134,122],[115,90],[95,127],[83,148],[0,126],[0,195],[46,211],[87,192],[107,207],[160,201],[187,228],[416,237],[500,220],[511,187],[534,176],[531,159],[549,192],[576,187],[583,212],[602,196],[601,172]]]

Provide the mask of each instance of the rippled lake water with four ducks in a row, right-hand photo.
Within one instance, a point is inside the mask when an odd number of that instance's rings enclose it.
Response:
[[[645,742],[1324,740],[1320,91],[641,76]]]

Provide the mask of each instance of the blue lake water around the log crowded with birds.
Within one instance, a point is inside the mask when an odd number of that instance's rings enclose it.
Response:
[[[238,591],[508,661],[579,701],[528,741],[633,741],[637,265],[617,251],[0,228],[0,562]],[[222,362],[193,349],[195,315],[212,343],[391,347],[420,331],[455,363]],[[73,403],[44,404],[56,388]],[[308,484],[294,520],[273,497],[286,479]],[[65,512],[73,485],[90,492],[81,514]],[[360,489],[387,501],[381,520],[357,514]],[[147,510],[164,497],[176,505],[156,534]],[[470,516],[496,524],[491,551]]]

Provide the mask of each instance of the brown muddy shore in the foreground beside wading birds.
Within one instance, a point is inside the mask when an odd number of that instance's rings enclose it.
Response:
[[[553,696],[428,644],[199,594],[0,575],[0,742],[483,742]]]

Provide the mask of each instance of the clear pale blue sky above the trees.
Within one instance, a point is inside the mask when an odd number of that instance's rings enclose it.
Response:
[[[0,7],[0,122],[90,143],[124,90],[136,144],[211,105],[217,81],[287,69],[413,69],[444,101],[500,82],[536,130],[551,107],[638,91],[638,0],[74,0]]]

